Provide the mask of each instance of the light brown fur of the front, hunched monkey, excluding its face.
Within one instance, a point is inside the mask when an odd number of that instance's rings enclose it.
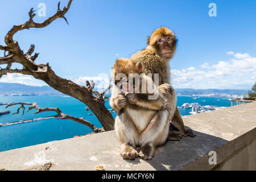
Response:
[[[113,75],[117,75],[119,71],[126,73],[139,71],[130,67],[135,64],[129,62],[134,61],[117,60],[113,67]],[[143,78],[151,79],[147,76]],[[113,80],[113,82],[115,81]],[[160,91],[159,98],[148,100],[145,97],[147,94],[131,93],[126,97],[116,85],[112,87],[110,106],[118,113],[115,118],[115,133],[122,143],[121,156],[123,159],[133,160],[141,156],[142,159],[150,160],[154,156],[155,148],[166,142],[170,124],[166,108],[174,107],[172,105],[175,102],[165,104],[168,100],[165,96],[175,94],[175,92],[169,84],[156,86],[156,89]],[[118,105],[119,101],[122,101],[122,105]],[[138,147],[137,155],[135,149]]]

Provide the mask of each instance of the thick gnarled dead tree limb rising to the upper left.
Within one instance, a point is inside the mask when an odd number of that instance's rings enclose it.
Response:
[[[75,84],[71,80],[61,78],[53,72],[49,64],[36,64],[35,60],[38,57],[38,53],[34,52],[35,46],[32,44],[26,53],[19,47],[17,41],[13,40],[14,34],[18,31],[27,30],[30,28],[44,28],[52,23],[57,18],[65,18],[65,14],[71,6],[72,0],[69,0],[67,7],[63,10],[60,9],[60,2],[57,5],[57,13],[46,19],[43,23],[35,23],[33,18],[35,16],[34,10],[31,9],[28,13],[29,20],[26,23],[18,26],[13,26],[11,30],[5,36],[6,46],[0,46],[0,49],[8,52],[5,57],[1,57],[0,65],[7,64],[5,69],[0,70],[0,78],[7,73],[20,73],[23,75],[31,75],[36,79],[43,80],[52,88],[58,90],[61,93],[68,96],[77,98],[77,100],[87,105],[90,110],[96,115],[98,121],[102,124],[105,131],[114,129],[114,118],[109,110],[105,107],[105,99],[107,99],[103,93],[98,94],[94,88],[88,88],[87,85],[80,86]],[[13,63],[23,65],[23,69],[11,69]]]

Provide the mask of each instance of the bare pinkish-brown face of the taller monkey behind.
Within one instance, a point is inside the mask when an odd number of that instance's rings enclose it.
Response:
[[[156,49],[164,59],[171,59],[176,49],[176,38],[172,36],[160,37],[155,43]]]

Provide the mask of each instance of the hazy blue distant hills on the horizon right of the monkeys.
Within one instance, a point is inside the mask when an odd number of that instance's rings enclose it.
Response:
[[[175,89],[177,94],[192,95],[192,94],[247,94],[248,90],[238,89]]]

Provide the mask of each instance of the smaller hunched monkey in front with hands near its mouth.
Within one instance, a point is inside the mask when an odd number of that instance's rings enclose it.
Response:
[[[155,85],[150,76],[141,73],[142,64],[130,59],[119,59],[113,67],[114,84],[110,106],[117,111],[115,133],[122,143],[123,159],[133,160],[138,156],[142,159],[152,159],[155,148],[167,140],[169,115],[173,115],[175,111],[171,111],[171,108],[175,108],[176,99],[170,101],[168,97],[171,95],[172,98],[176,98],[172,86]],[[136,86],[134,80],[139,82],[139,86]],[[149,93],[147,89],[145,92],[145,81],[147,88],[154,85],[151,87],[153,92]],[[157,97],[150,99],[150,96],[155,95]]]

